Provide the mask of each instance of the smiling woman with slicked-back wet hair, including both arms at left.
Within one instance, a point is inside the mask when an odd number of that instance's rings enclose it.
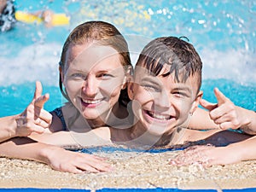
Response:
[[[90,127],[129,123],[125,108],[129,99],[125,89],[130,70],[128,45],[113,25],[90,21],[77,26],[68,36],[61,54],[60,82],[65,86],[61,92],[67,98],[67,104],[56,109],[52,118],[43,108],[49,95],[41,96],[42,87],[37,83],[35,96],[28,108],[19,115],[1,119],[1,130],[11,127],[7,132],[14,132],[2,141],[15,137],[1,143],[1,154],[38,160],[64,172],[109,171],[110,166],[101,158],[35,143],[24,136],[31,135],[33,131],[72,129],[74,132],[86,132]]]

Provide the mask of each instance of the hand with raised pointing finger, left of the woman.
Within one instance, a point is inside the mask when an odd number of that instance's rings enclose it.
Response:
[[[42,96],[42,91],[42,84],[37,81],[32,102],[16,118],[18,137],[29,136],[32,132],[43,133],[45,128],[49,128],[52,115],[44,110],[44,103],[49,100],[49,94]]]

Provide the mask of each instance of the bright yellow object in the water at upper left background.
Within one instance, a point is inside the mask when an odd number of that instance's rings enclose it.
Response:
[[[25,23],[41,23],[44,20],[36,15],[28,14],[23,11],[15,12],[15,19]],[[52,15],[51,25],[52,26],[64,26],[69,24],[69,17],[65,14],[54,14]]]

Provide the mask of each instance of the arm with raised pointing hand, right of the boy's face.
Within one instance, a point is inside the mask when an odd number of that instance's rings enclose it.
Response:
[[[236,106],[229,98],[224,96],[217,88],[214,89],[218,103],[207,102],[201,99],[200,103],[203,108],[209,110],[209,117],[206,111],[198,108],[191,117],[190,128],[203,129],[219,128],[238,129],[241,128],[248,134],[256,134],[256,113],[245,108]]]

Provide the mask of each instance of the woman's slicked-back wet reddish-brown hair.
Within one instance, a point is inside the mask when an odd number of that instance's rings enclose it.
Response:
[[[128,44],[118,29],[104,21],[88,21],[75,27],[73,32],[71,32],[67,37],[61,53],[60,66],[62,70],[66,70],[67,68],[67,50],[69,49],[70,45],[90,43],[92,41],[97,41],[97,44],[110,46],[113,49],[116,49],[119,53],[119,58],[124,68],[127,69],[128,67],[131,67]],[[66,90],[63,90],[62,87],[61,74],[59,86],[61,94],[70,102]],[[126,106],[128,102],[130,102],[130,99],[127,94],[127,89],[121,90],[119,103]]]

